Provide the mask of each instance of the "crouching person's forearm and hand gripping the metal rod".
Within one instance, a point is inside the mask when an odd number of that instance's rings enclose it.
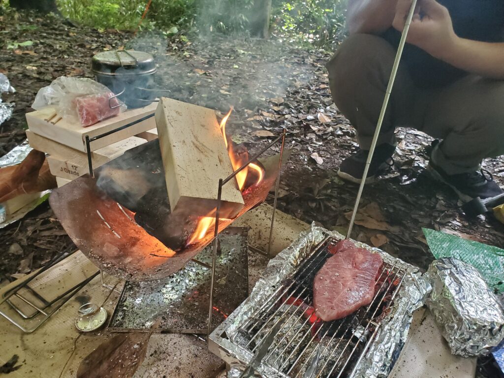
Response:
[[[393,23],[397,30],[403,30],[410,6],[411,0],[399,0]],[[448,10],[435,0],[418,0],[406,41],[461,70],[504,79],[504,43],[460,38]]]

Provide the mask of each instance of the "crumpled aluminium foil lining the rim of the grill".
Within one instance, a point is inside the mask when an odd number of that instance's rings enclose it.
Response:
[[[239,327],[254,313],[255,309],[274,292],[276,287],[304,260],[314,246],[321,242],[327,235],[336,239],[344,236],[338,232],[328,231],[312,224],[309,232],[303,232],[300,238],[273,258],[263,277],[254,287],[250,296],[238,307],[228,320],[221,325],[211,336],[212,342],[219,345],[221,357],[230,365],[228,377],[237,377],[240,370],[253,357],[252,353],[237,345]],[[382,327],[370,345],[369,351],[361,360],[354,377],[359,378],[385,378],[394,366],[402,346],[406,340],[412,313],[421,307],[430,291],[429,282],[424,279],[418,268],[396,259],[384,251],[369,245],[355,242],[359,247],[379,253],[384,262],[391,265],[397,263],[408,272],[403,285],[397,294],[388,316],[382,322]],[[222,338],[223,331],[227,338]],[[264,377],[285,377],[275,369],[261,364],[257,371]]]

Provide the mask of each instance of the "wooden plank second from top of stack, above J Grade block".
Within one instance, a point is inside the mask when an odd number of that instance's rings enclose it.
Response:
[[[32,148],[38,151],[45,152],[46,154],[53,155],[59,160],[72,162],[81,167],[88,166],[88,156],[85,152],[75,150],[68,146],[62,145],[61,143],[54,142],[50,139],[41,137],[38,134],[33,133],[31,130],[26,131],[26,137],[28,138],[28,143]],[[139,146],[145,143],[145,139],[138,137],[130,137],[122,141],[111,144],[100,148],[99,150],[93,151],[91,153],[91,159],[93,161],[93,167],[99,167],[105,164],[107,161],[115,159],[116,157],[122,155],[124,151]]]

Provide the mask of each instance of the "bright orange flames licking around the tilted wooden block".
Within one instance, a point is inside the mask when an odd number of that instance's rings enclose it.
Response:
[[[228,140],[227,140],[226,122],[227,122],[229,116],[231,115],[232,111],[233,111],[233,107],[231,107],[229,109],[229,111],[227,112],[227,114],[222,118],[222,120],[220,122],[220,128],[222,131],[222,135],[224,136],[224,143],[226,144],[227,153],[229,155],[229,159],[231,160],[231,165],[233,166],[233,170],[236,171],[237,169],[239,169],[243,164],[245,164],[248,161],[248,154],[247,153],[237,154],[234,151],[233,142],[232,141],[228,142]],[[250,170],[249,170],[249,168],[250,168]],[[257,180],[254,182],[254,185],[259,184],[264,178],[264,170],[262,167],[260,167],[258,164],[255,164],[255,163],[248,164],[248,166],[243,168],[235,176],[240,192],[243,192],[246,189],[245,182],[246,182],[247,175],[249,172],[254,172],[255,175],[257,175]],[[205,235],[207,234],[209,228],[215,227],[215,216],[212,216],[215,214],[215,210],[216,209],[212,210],[206,216],[201,217],[199,219],[198,225],[196,227],[196,231],[191,236],[191,239],[187,242],[187,245],[202,240],[205,237]]]

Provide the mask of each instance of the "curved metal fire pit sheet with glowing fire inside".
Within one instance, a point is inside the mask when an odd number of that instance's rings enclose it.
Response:
[[[193,105],[191,105],[193,106]],[[278,174],[279,157],[249,160],[245,146],[220,129],[244,206],[236,216],[219,218],[221,232],[266,199]],[[178,271],[214,235],[215,208],[204,216],[191,209],[171,211],[158,140],[134,148],[55,190],[50,205],[72,240],[97,266],[112,275],[145,281]],[[215,177],[215,187],[219,178]],[[226,185],[230,185],[231,182]]]

